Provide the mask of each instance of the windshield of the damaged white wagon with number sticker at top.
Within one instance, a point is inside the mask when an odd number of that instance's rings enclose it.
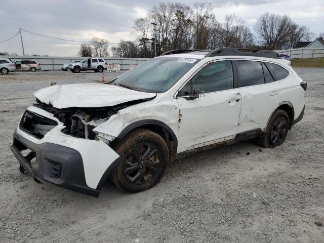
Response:
[[[112,84],[148,93],[163,93],[197,62],[197,59],[179,57],[153,58],[117,77]]]

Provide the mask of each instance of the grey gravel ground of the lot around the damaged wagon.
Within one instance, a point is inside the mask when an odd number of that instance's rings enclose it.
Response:
[[[0,75],[0,241],[324,242],[324,69],[296,71],[308,82],[306,110],[281,146],[246,141],[198,152],[148,191],[108,183],[99,198],[35,183],[19,173],[10,145],[34,91],[101,74]]]

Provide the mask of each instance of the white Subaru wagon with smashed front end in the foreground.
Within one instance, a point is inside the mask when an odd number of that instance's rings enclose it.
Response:
[[[189,51],[106,84],[37,91],[11,147],[20,171],[93,196],[108,177],[138,192],[176,156],[247,139],[275,147],[302,119],[307,84],[275,52]]]

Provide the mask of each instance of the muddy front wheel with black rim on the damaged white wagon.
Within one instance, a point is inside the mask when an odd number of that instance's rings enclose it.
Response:
[[[147,190],[161,179],[167,169],[168,145],[150,130],[135,129],[113,147],[122,160],[111,173],[111,179],[123,191]]]

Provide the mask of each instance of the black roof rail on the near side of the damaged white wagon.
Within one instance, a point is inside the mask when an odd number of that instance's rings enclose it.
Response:
[[[256,49],[219,48],[206,55],[206,57],[215,56],[253,56],[280,59],[279,55],[274,51]]]

